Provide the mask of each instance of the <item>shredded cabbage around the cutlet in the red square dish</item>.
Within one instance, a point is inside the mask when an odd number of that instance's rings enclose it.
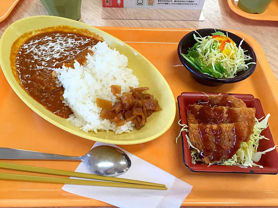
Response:
[[[233,155],[232,158],[228,160],[215,161],[210,163],[209,165],[213,165],[213,164],[228,165],[228,166],[236,165],[242,168],[247,168],[248,166],[249,167],[258,166],[259,168],[263,168],[263,166],[255,164],[255,162],[258,162],[261,159],[261,155],[270,152],[272,150],[275,150],[277,146],[275,145],[274,147],[269,148],[263,152],[257,152],[257,148],[259,146],[259,140],[261,139],[269,140],[268,138],[265,138],[264,136],[261,135],[261,132],[268,127],[267,121],[269,116],[270,114],[267,114],[267,116],[263,120],[261,120],[262,118],[260,119],[255,118],[254,133],[251,135],[250,140],[248,142],[242,142],[239,150],[235,155]],[[176,138],[176,141],[180,137],[182,131],[188,132],[188,129],[186,129],[188,128],[188,126],[184,124],[180,124],[180,121],[179,121],[179,125],[182,126],[183,128],[180,131],[179,136]],[[189,148],[191,149],[192,164],[196,164],[196,161],[201,161],[203,163],[203,160],[199,157],[200,151],[192,145],[187,135],[186,135],[186,139],[189,144]]]

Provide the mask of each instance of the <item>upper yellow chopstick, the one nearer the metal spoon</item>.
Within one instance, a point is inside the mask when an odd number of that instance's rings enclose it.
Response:
[[[131,179],[99,176],[99,175],[94,175],[94,174],[73,172],[73,171],[67,171],[67,170],[39,168],[39,167],[34,167],[34,166],[18,165],[18,164],[5,163],[5,162],[0,162],[0,169],[18,170],[18,171],[24,171],[24,172],[43,173],[43,174],[59,175],[59,176],[70,176],[70,177],[102,180],[102,181],[114,181],[114,182],[131,183],[131,184],[138,184],[138,185],[166,187],[166,185],[159,184],[159,183],[150,183],[150,182],[137,181],[137,180],[131,180]]]

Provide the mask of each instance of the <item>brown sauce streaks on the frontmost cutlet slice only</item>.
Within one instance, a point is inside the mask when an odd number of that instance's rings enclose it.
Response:
[[[209,129],[214,137],[213,141],[215,147],[211,145],[209,140],[210,134],[207,132],[208,129],[206,129],[206,125],[199,124],[198,127],[204,146],[200,155],[202,157],[209,157],[211,161],[219,161],[222,155],[227,155],[227,158],[233,157],[233,155],[235,155],[236,151],[239,149],[242,140],[244,140],[244,131],[242,130],[241,123],[235,123],[235,127],[232,132],[234,134],[234,140],[232,141],[232,145],[229,149],[224,149],[222,147],[222,132],[220,127],[216,129]]]

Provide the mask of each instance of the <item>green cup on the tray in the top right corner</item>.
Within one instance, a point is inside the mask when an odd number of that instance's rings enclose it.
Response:
[[[239,0],[238,6],[244,12],[248,13],[263,13],[272,0]]]

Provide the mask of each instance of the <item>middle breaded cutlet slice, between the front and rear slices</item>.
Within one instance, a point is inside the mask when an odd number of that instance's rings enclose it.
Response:
[[[187,114],[189,124],[206,123],[236,123],[248,121],[249,125],[255,125],[255,108],[211,107],[203,105],[190,105]]]

